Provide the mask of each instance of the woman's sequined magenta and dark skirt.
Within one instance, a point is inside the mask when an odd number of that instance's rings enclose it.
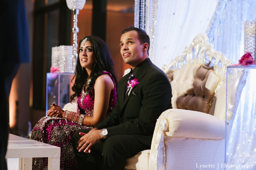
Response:
[[[77,130],[90,128],[63,118],[43,117],[38,121],[27,138],[61,147],[60,170],[76,170],[76,158],[71,138]],[[48,158],[33,158],[33,170],[47,170],[47,165]]]

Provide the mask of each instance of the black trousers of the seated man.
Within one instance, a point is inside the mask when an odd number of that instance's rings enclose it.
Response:
[[[81,138],[79,132],[88,133],[89,131],[79,130],[72,137],[79,170],[124,170],[126,158],[150,149],[149,145],[142,144],[134,135],[115,135],[94,144],[91,153],[83,151],[79,153],[76,149]]]

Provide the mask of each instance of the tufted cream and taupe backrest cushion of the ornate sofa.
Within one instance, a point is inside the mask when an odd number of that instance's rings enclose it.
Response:
[[[167,72],[172,85],[172,107],[209,113],[216,86],[221,78],[200,64]]]

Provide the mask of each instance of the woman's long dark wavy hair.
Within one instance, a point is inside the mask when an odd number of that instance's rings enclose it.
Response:
[[[117,85],[117,76],[114,71],[114,63],[111,58],[107,44],[99,37],[92,35],[92,36],[84,37],[82,40],[80,40],[79,48],[80,48],[81,42],[85,38],[87,38],[87,41],[90,41],[90,43],[92,44],[93,57],[94,57],[94,63],[90,73],[91,82],[87,86],[85,91],[89,93],[90,97],[94,98],[93,84],[95,84],[96,79],[102,74],[102,71],[110,72],[116,85]],[[80,96],[81,90],[84,87],[84,84],[86,83],[88,78],[88,73],[86,69],[85,68],[82,69],[81,67],[80,60],[79,60],[79,53],[80,52],[78,52],[78,58],[76,61],[76,73],[71,80],[73,81],[73,79],[75,78],[75,84],[72,87],[72,90],[73,92],[75,92],[75,94],[70,96],[71,101],[73,101],[75,97]]]

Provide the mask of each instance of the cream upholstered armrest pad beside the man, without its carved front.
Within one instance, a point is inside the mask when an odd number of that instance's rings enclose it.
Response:
[[[225,121],[215,116],[183,109],[169,109],[159,119],[166,118],[170,137],[221,140],[225,138]]]

